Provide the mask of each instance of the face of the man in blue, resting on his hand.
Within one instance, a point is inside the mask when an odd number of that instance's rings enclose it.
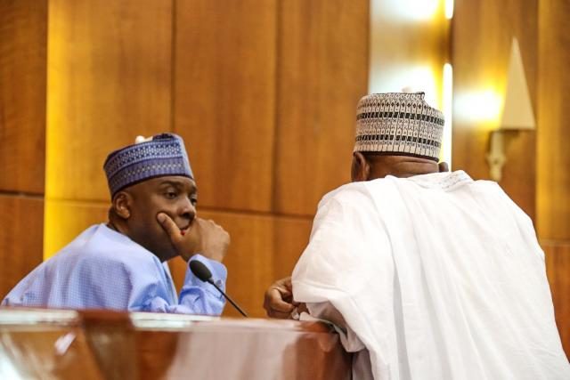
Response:
[[[175,248],[157,215],[167,214],[181,233],[185,232],[196,216],[197,190],[196,183],[183,176],[153,178],[127,188],[132,197],[126,220],[129,237],[161,261],[175,257]]]

